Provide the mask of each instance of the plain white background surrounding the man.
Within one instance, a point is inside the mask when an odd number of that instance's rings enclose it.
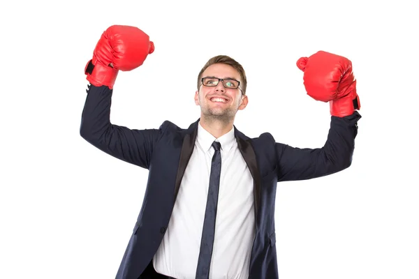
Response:
[[[328,104],[307,96],[295,62],[318,50],[351,59],[362,105],[353,164],[321,179],[279,183],[279,277],[419,278],[413,4],[81,2],[2,4],[0,278],[115,278],[147,170],[79,134],[84,66],[112,24],[139,27],[156,45],[115,84],[111,121],[130,128],[196,121],[196,76],[207,59],[227,54],[249,80],[239,130],[321,147]]]

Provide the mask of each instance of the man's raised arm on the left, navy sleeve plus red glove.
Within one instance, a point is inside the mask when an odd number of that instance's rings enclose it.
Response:
[[[154,45],[136,27],[109,27],[98,41],[85,68],[90,82],[82,112],[80,135],[105,153],[140,167],[149,168],[154,144],[161,129],[131,130],[110,123],[113,85],[119,70],[138,68]]]

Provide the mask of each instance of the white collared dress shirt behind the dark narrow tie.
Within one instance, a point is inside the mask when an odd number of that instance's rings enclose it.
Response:
[[[177,279],[195,278],[214,140],[221,143],[221,179],[210,279],[249,277],[255,235],[253,178],[238,149],[234,127],[216,139],[200,123],[166,234],[153,258],[158,273]]]

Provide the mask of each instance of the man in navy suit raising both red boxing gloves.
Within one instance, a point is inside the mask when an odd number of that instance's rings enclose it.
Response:
[[[119,70],[141,66],[154,52],[135,27],[112,26],[98,41],[85,73],[90,85],[80,135],[111,156],[149,169],[142,209],[117,279],[278,278],[274,202],[277,182],[313,179],[351,165],[359,98],[351,62],[318,52],[303,57],[304,86],[330,102],[328,140],[319,149],[249,138],[233,125],[247,106],[247,78],[234,59],[216,56],[198,75],[200,119],[187,129],[110,123]]]

